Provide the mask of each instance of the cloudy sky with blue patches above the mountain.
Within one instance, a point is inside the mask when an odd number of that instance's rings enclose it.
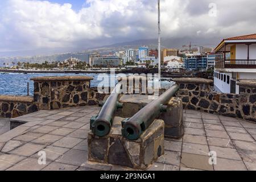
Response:
[[[163,38],[256,32],[255,0],[161,0]],[[157,0],[1,0],[0,52],[157,38]]]

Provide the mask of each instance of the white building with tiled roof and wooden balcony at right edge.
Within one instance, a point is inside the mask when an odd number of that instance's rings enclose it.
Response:
[[[239,94],[239,80],[256,80],[256,34],[224,39],[215,54],[216,90]]]

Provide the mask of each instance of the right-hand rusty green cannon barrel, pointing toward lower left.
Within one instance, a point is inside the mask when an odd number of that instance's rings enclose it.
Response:
[[[150,104],[139,110],[133,117],[127,118],[122,122],[122,135],[129,140],[137,140],[141,137],[151,123],[165,111],[168,101],[179,90],[179,86],[173,85],[169,90],[162,94],[157,100],[150,102]]]

